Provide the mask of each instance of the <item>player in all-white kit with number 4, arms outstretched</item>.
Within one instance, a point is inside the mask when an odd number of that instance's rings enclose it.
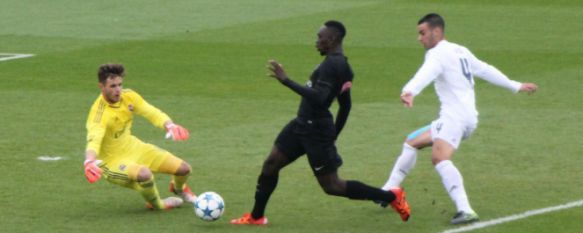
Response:
[[[538,87],[534,83],[508,79],[495,67],[476,58],[467,48],[445,40],[444,28],[443,18],[435,13],[419,20],[418,39],[427,50],[425,61],[401,93],[401,102],[406,107],[413,107],[414,97],[434,82],[441,103],[439,118],[407,136],[383,189],[400,186],[415,166],[417,151],[431,146],[431,161],[457,207],[451,223],[462,224],[479,220],[470,206],[462,175],[451,161],[460,141],[468,138],[478,124],[474,75],[514,93],[532,93]],[[386,206],[386,203],[381,203],[381,206]]]

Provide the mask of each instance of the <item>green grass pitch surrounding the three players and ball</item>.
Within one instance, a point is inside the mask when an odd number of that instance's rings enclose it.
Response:
[[[328,19],[345,23],[356,74],[353,109],[339,141],[339,174],[383,184],[405,135],[436,116],[431,87],[413,109],[400,89],[423,60],[416,23],[446,20],[448,40],[466,45],[535,95],[478,81],[480,125],[454,162],[483,221],[583,198],[583,2],[581,0],[128,0],[0,3],[0,232],[443,232],[455,208],[422,151],[404,186],[402,223],[371,202],[326,196],[305,158],[284,169],[267,208],[270,225],[231,226],[250,211],[261,164],[299,97],[266,77],[275,58],[304,82],[322,60],[314,44]],[[4,55],[2,57],[5,57]],[[86,182],[85,120],[99,94],[97,67],[126,66],[124,86],[187,127],[174,143],[143,119],[134,134],[184,158],[197,193],[226,201],[216,222],[191,207],[153,212],[141,197]],[[60,156],[39,161],[39,156]],[[156,177],[163,196],[168,176]],[[583,208],[474,232],[580,232]]]

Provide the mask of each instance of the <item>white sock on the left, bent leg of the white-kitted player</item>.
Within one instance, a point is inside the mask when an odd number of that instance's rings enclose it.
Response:
[[[382,189],[389,190],[390,188],[399,187],[407,174],[409,174],[409,171],[415,167],[415,162],[417,162],[417,149],[404,143],[403,151],[397,162],[395,162],[393,171],[391,171],[391,175]]]

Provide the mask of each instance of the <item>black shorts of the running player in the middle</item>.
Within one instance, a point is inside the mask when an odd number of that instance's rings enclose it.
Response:
[[[308,161],[314,175],[336,172],[342,165],[342,158],[336,151],[336,128],[331,118],[307,120],[296,118],[281,130],[275,146],[290,161],[308,154]]]

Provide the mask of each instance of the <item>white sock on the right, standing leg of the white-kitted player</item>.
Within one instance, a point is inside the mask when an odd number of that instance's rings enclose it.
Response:
[[[470,201],[468,200],[468,195],[464,188],[462,174],[455,165],[453,165],[451,160],[441,161],[435,165],[435,170],[437,170],[437,173],[441,176],[443,186],[447,193],[449,193],[451,200],[455,203],[457,210],[466,213],[475,213],[474,210],[472,210],[472,207],[470,207]]]

